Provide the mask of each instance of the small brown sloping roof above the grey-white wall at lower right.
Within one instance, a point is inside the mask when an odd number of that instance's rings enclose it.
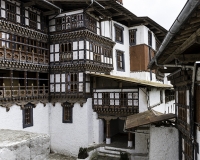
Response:
[[[135,128],[142,125],[165,121],[173,118],[176,118],[176,115],[173,113],[162,114],[155,110],[148,110],[128,116],[126,119],[125,129]]]

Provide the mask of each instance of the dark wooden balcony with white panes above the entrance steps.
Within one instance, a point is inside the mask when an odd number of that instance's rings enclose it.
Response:
[[[139,113],[137,92],[96,92],[93,109],[99,114],[131,115]]]

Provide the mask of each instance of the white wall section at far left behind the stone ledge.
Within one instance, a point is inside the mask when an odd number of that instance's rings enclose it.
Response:
[[[23,128],[22,110],[19,106],[13,105],[9,112],[0,107],[0,129],[23,130],[35,133],[49,134],[49,104],[37,104],[33,108],[33,126]]]

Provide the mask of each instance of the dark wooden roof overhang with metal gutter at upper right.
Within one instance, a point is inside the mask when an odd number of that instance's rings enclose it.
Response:
[[[188,0],[148,68],[155,69],[166,64],[190,65],[200,60],[199,12],[200,1]]]

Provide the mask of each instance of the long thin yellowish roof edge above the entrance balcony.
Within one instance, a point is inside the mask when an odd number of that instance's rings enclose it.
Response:
[[[136,78],[130,78],[130,77],[120,77],[120,76],[97,74],[97,73],[88,73],[88,74],[92,76],[97,76],[97,77],[105,77],[105,78],[111,78],[111,79],[115,79],[119,81],[129,82],[129,83],[136,83],[143,86],[150,86],[150,87],[157,87],[157,88],[172,88],[173,87],[172,85],[146,81],[146,80],[141,80],[141,79],[136,79]]]

